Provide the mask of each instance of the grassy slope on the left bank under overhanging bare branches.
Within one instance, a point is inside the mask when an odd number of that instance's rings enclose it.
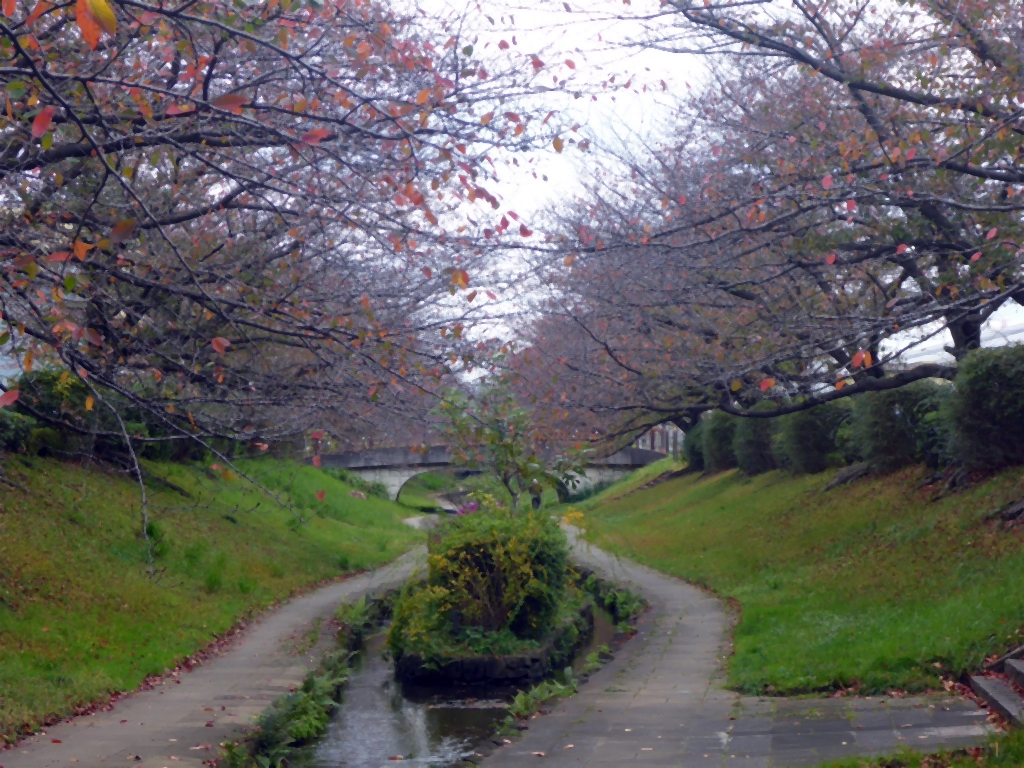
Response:
[[[152,488],[164,541],[151,580],[137,485],[42,459],[6,465],[29,493],[0,486],[0,738],[134,688],[251,611],[390,560],[421,536],[401,524],[406,509],[353,498],[312,467],[243,463],[309,518],[294,526],[244,480],[155,464],[191,498]]]

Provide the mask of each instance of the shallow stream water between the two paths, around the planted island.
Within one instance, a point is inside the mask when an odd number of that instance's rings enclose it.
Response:
[[[578,654],[577,670],[614,634],[609,618],[595,614],[594,637]],[[327,734],[297,761],[301,768],[383,768],[395,760],[443,768],[471,755],[504,720],[514,690],[403,685],[381,657],[382,646],[383,636],[367,644]]]

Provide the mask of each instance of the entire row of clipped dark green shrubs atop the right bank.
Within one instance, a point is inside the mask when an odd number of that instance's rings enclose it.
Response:
[[[754,410],[771,411],[772,403]],[[952,383],[926,380],[778,418],[706,414],[686,435],[693,469],[821,472],[855,462],[997,469],[1024,463],[1024,345],[980,349]]]

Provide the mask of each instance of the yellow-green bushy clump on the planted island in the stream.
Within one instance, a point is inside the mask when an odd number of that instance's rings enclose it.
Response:
[[[407,588],[395,604],[388,644],[396,656],[511,652],[556,624],[567,582],[565,535],[548,514],[486,501],[483,509],[450,520],[429,545],[426,583]]]

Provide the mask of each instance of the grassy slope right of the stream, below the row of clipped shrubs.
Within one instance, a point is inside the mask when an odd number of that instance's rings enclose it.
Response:
[[[821,493],[831,474],[686,475],[596,500],[588,537],[736,601],[748,693],[938,688],[1020,641],[1024,527],[986,517],[1021,468],[936,502],[920,468]]]

